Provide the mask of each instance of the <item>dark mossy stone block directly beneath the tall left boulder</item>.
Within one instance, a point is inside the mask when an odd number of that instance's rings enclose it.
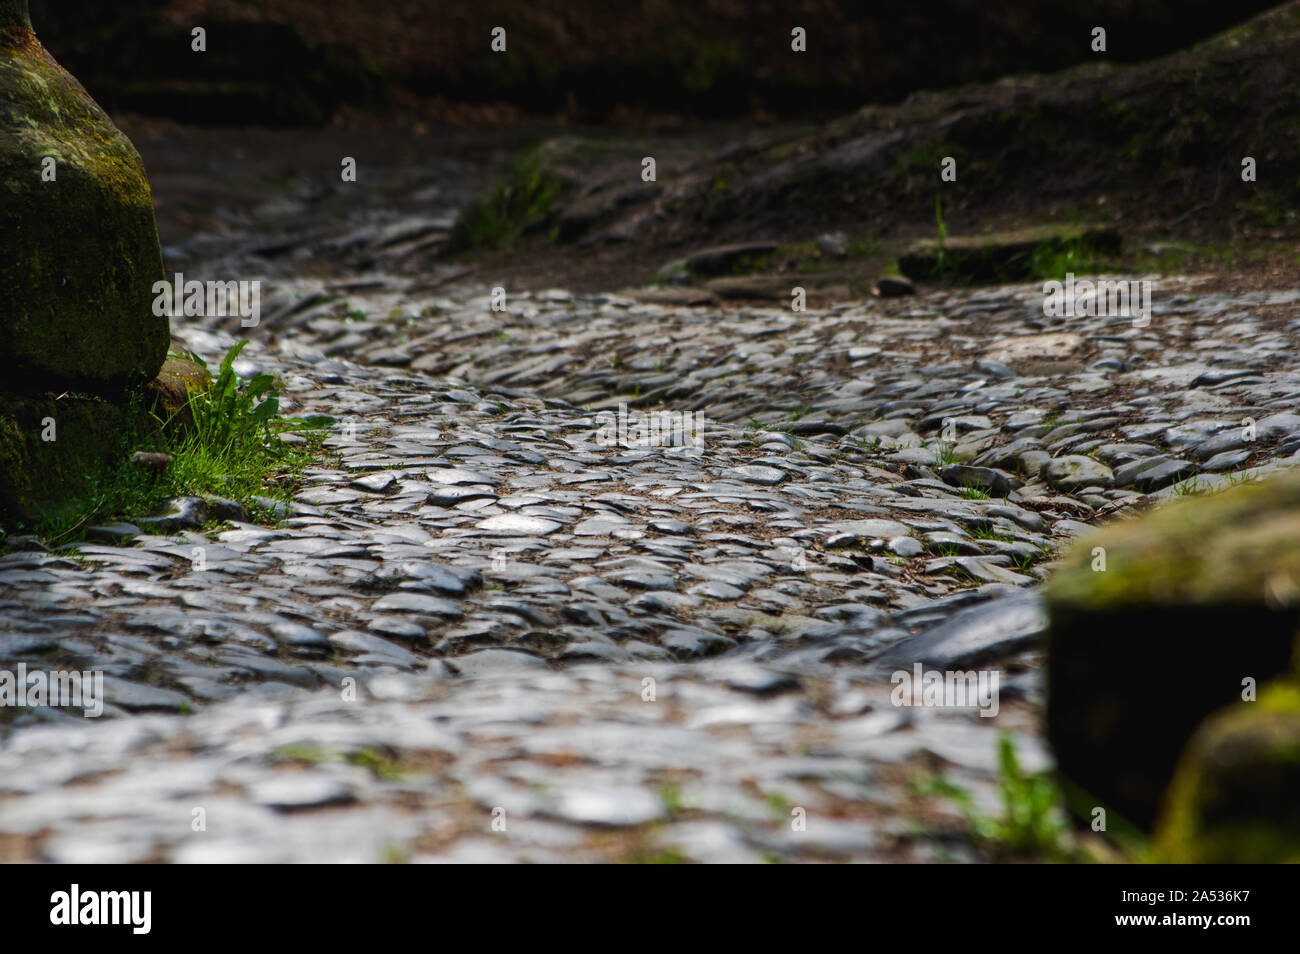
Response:
[[[99,398],[0,394],[0,522],[73,506],[121,458],[127,413]]]

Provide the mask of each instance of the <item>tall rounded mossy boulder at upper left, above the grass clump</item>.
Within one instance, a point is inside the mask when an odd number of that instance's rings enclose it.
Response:
[[[53,160],[48,162],[47,160]],[[139,153],[0,0],[0,360],[5,387],[101,395],[166,356],[153,200]]]

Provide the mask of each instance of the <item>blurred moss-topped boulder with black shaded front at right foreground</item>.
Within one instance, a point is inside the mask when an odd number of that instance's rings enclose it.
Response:
[[[1104,560],[1104,563],[1102,563]],[[1104,568],[1101,568],[1104,567]],[[1149,828],[1187,740],[1292,667],[1300,473],[1080,539],[1046,586],[1048,738],[1087,812]]]

